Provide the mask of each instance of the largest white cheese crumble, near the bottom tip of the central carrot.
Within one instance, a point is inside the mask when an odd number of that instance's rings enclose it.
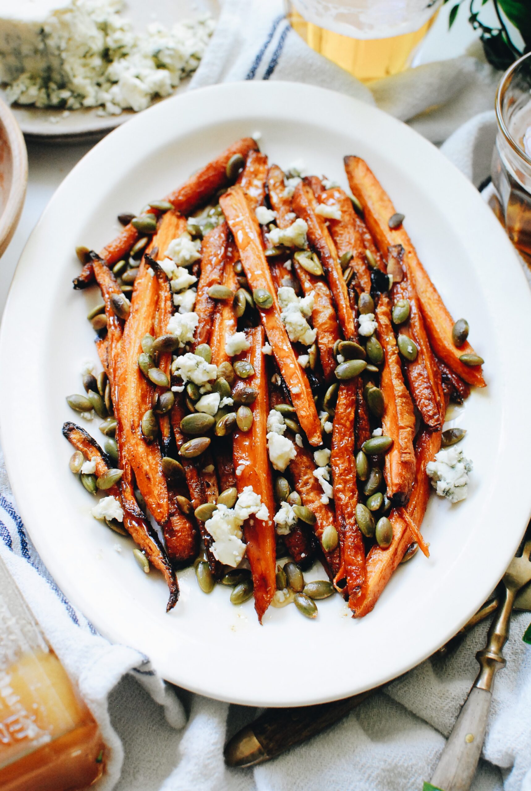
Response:
[[[246,519],[269,519],[269,511],[259,494],[255,494],[252,486],[245,486],[238,496],[234,508],[218,505],[211,518],[205,522],[205,528],[214,539],[212,554],[226,566],[238,566],[245,555],[245,543],[241,540],[241,528]]]

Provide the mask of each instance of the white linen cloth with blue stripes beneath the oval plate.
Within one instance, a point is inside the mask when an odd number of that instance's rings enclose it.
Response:
[[[190,87],[252,79],[310,82],[377,104],[432,142],[444,142],[444,153],[476,186],[487,179],[499,74],[473,54],[369,89],[305,46],[287,24],[281,0],[226,0]],[[452,656],[423,662],[311,742],[255,770],[228,770],[223,744],[256,711],[184,691],[179,700],[154,675],[148,657],[95,634],[32,549],[3,464],[0,539],[2,558],[111,748],[104,791],[420,789],[465,701],[476,675],[474,655],[484,645],[487,626],[479,626]],[[522,642],[528,622],[529,615],[514,615],[474,791],[531,791],[531,651]]]

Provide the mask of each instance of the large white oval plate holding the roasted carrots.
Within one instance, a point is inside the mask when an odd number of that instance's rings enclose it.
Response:
[[[116,214],[166,195],[229,143],[262,133],[271,163],[303,159],[309,172],[347,181],[343,156],[358,154],[405,214],[420,258],[450,312],[465,316],[486,360],[487,388],[453,411],[468,433],[469,496],[433,495],[423,522],[430,558],[400,566],[374,611],[349,616],[339,596],[309,621],[252,601],[210,596],[193,569],[165,613],[167,591],[139,570],[129,539],[90,516],[94,499],[68,469],[65,396],[97,360],[85,316],[96,288],[74,292],[77,244],[97,250],[119,230]],[[36,288],[35,284],[39,287]],[[510,325],[510,338],[507,325]],[[510,339],[513,339],[510,341]],[[514,339],[517,339],[516,341]],[[379,110],[309,85],[216,85],[157,104],[104,138],[63,181],[21,256],[0,334],[0,425],[9,479],[37,550],[60,587],[97,629],[148,654],[165,679],[213,698],[259,705],[317,703],[355,694],[412,668],[446,642],[499,581],[529,520],[531,299],[518,259],[480,195],[425,139]],[[99,420],[85,428],[102,440]],[[317,566],[311,578],[322,578]]]

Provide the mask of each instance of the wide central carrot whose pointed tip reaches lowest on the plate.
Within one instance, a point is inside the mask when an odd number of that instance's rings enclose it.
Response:
[[[254,327],[248,330],[250,349],[241,359],[247,359],[255,369],[254,376],[248,380],[258,395],[251,405],[253,422],[251,430],[237,430],[233,439],[234,468],[240,471],[237,476],[237,490],[241,493],[245,486],[252,486],[255,494],[267,506],[267,520],[251,517],[245,521],[244,536],[247,543],[247,559],[251,566],[254,584],[255,609],[258,619],[262,617],[275,594],[275,499],[271,467],[267,455],[267,415],[269,414],[269,393],[267,392],[267,368],[262,346],[265,343],[264,329]]]

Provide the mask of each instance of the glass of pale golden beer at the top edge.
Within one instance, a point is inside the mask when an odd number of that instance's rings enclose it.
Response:
[[[291,26],[365,82],[408,68],[442,0],[286,0]]]

